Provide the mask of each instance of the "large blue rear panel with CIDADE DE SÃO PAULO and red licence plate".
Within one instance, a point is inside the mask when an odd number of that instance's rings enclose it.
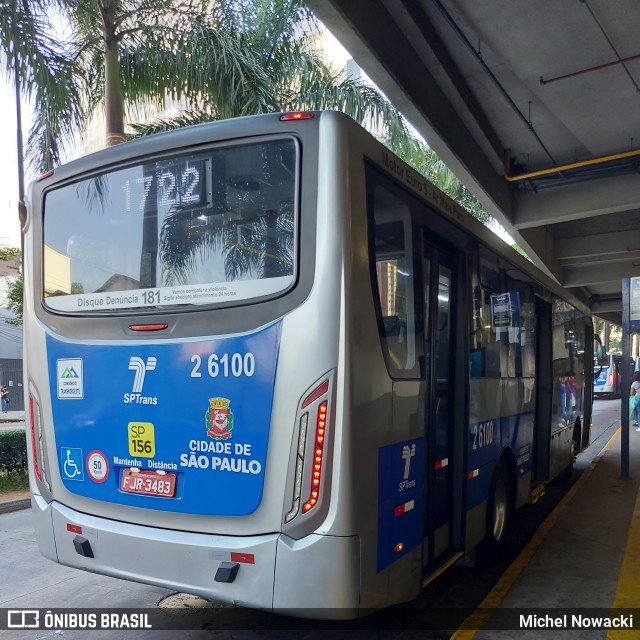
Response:
[[[47,336],[60,477],[117,504],[241,516],[262,499],[281,324],[181,342]]]

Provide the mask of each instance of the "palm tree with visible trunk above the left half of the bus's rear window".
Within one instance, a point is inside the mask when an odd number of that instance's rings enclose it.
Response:
[[[187,106],[215,102],[221,108],[241,94],[245,102],[240,115],[263,110],[271,100],[254,57],[227,31],[215,28],[215,4],[59,1],[74,27],[79,65],[89,78],[88,108],[104,103],[107,144],[124,140],[127,110],[131,120],[140,107],[162,106],[167,98]],[[230,115],[223,109],[222,117]]]

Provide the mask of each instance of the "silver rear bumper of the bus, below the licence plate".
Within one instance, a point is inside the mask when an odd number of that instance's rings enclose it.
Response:
[[[358,615],[357,536],[293,540],[279,533],[241,537],[158,529],[87,515],[37,495],[32,510],[41,553],[69,567],[287,615]],[[76,550],[78,535],[89,541],[93,558]],[[220,563],[231,562],[232,553],[244,560],[237,577],[215,582]]]

